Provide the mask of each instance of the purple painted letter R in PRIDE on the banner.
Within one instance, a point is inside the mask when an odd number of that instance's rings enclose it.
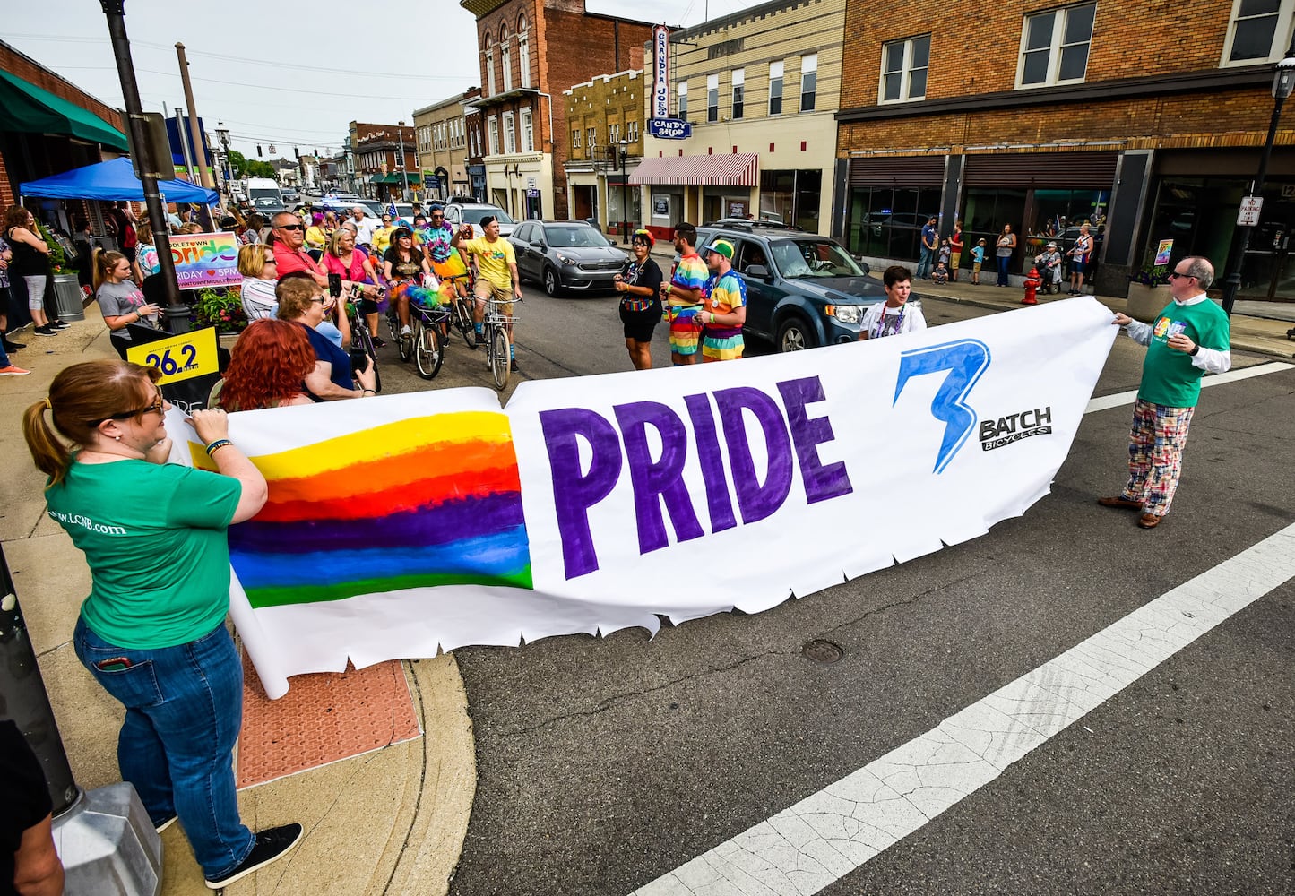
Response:
[[[684,483],[688,460],[688,427],[667,405],[658,401],[635,401],[613,408],[620,425],[629,462],[629,484],[635,489],[635,517],[638,522],[638,553],[646,554],[670,544],[660,505],[666,502],[671,526],[680,541],[704,535],[697,522],[693,501]],[[660,434],[660,460],[653,461],[648,444],[648,427]]]

